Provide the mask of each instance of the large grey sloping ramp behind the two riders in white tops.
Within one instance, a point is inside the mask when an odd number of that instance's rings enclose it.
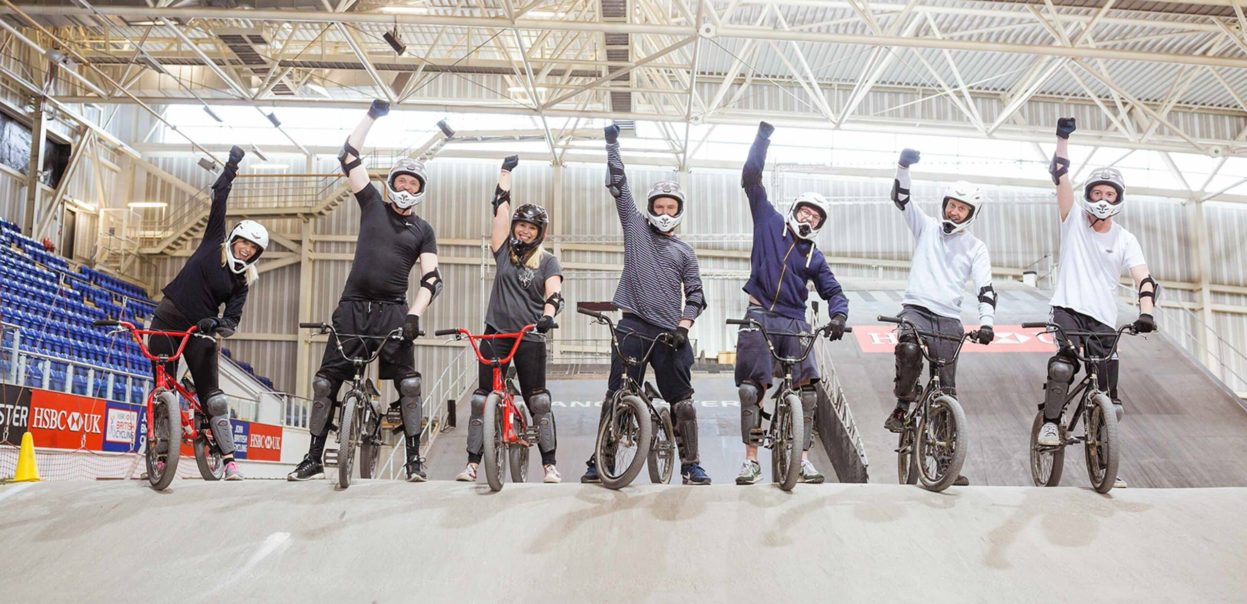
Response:
[[[894,315],[902,294],[850,294],[854,325],[878,325],[877,315]],[[998,335],[1008,325],[1047,316],[1046,291],[1003,286],[1000,294]],[[1134,310],[1124,309],[1121,316],[1134,318]],[[963,321],[976,319],[965,315]],[[973,484],[1031,484],[1030,428],[1051,352],[1009,351],[1034,344],[1021,342],[1024,337],[1014,334],[1010,344],[963,352],[958,361],[958,399],[971,430],[963,473]],[[832,346],[832,357],[865,443],[870,482],[895,483],[897,435],[883,428],[895,405],[893,355],[845,340]],[[1247,410],[1162,333],[1122,337],[1119,390],[1126,407],[1120,474],[1131,487],[1247,487]],[[1089,484],[1081,447],[1066,450],[1061,484]]]

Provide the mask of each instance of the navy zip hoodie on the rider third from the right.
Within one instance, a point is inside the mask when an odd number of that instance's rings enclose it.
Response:
[[[742,186],[753,215],[753,250],[749,254],[749,280],[744,291],[762,305],[789,319],[806,319],[807,283],[814,283],[819,298],[827,300],[828,316],[848,318],[849,301],[827,265],[827,258],[814,242],[792,234],[788,223],[767,199],[762,186],[762,167],[771,141],[758,137],[744,162]]]

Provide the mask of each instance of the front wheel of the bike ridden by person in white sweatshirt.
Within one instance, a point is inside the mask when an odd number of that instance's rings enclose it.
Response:
[[[965,411],[951,396],[932,401],[918,425],[914,460],[918,481],[928,491],[944,491],[961,476],[968,446]]]

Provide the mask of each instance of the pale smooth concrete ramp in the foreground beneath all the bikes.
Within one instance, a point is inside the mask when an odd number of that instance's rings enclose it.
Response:
[[[1242,602],[1247,489],[0,487],[5,602]]]

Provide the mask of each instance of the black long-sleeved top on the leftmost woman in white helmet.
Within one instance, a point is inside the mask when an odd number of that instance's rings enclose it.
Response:
[[[232,179],[232,174],[222,174],[212,186],[212,210],[208,212],[203,240],[162,290],[165,298],[191,323],[217,316],[224,304],[226,310],[219,316],[237,325],[242,320],[242,306],[247,304],[247,274],[236,274],[221,262],[221,247],[226,242],[226,199],[229,198]]]

